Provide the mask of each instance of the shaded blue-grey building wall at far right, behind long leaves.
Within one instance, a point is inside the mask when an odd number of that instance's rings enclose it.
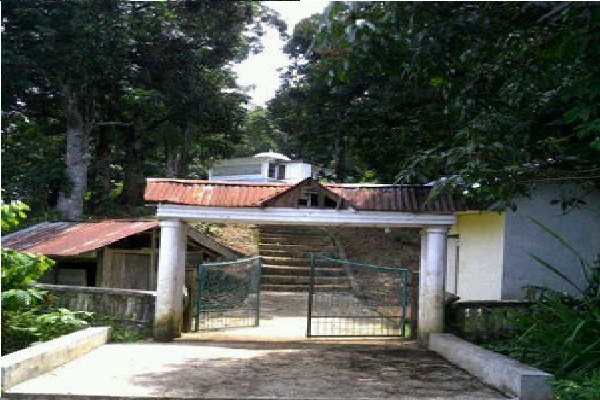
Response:
[[[564,213],[554,199],[582,198],[586,204]],[[585,286],[581,266],[572,252],[529,218],[560,235],[590,263],[600,254],[600,190],[574,185],[544,185],[531,198],[519,199],[517,211],[506,213],[506,245],[502,298],[523,298],[524,286],[548,286],[575,294],[576,289],[536,262],[531,254],[558,268],[579,286]]]

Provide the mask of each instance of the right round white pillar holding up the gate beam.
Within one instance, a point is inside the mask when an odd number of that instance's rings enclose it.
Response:
[[[448,227],[429,226],[421,234],[417,336],[426,343],[430,333],[444,331],[444,270]]]

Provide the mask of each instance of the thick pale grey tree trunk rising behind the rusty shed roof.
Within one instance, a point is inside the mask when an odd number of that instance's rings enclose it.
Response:
[[[83,200],[87,190],[89,115],[82,112],[82,101],[70,84],[63,85],[62,93],[67,120],[65,175],[68,182],[58,196],[57,209],[68,220],[77,221],[83,218]]]

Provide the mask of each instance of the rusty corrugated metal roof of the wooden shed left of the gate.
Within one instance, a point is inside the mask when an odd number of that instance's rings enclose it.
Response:
[[[158,220],[42,222],[6,235],[2,247],[30,253],[67,256],[104,247],[158,226]]]

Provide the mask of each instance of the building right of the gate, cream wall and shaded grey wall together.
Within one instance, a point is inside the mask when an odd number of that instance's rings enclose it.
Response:
[[[562,212],[551,201],[578,197],[586,204]],[[532,254],[558,268],[585,288],[579,261],[531,218],[560,235],[586,260],[600,254],[600,190],[548,184],[530,198],[517,200],[516,211],[460,211],[448,239],[446,291],[461,300],[522,299],[526,286],[542,286],[576,294],[577,290],[534,260]]]

